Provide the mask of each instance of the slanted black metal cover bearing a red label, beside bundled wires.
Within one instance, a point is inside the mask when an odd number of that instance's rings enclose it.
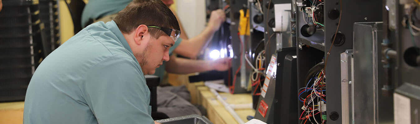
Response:
[[[289,117],[297,114],[297,111],[293,109],[297,106],[294,103],[297,98],[296,48],[283,48],[281,52],[277,52],[276,57],[276,75],[271,78],[265,97],[260,97],[258,101],[258,106],[261,100],[267,103],[267,114],[263,117],[257,106],[255,118],[268,124],[294,124],[293,122],[297,122],[297,119],[289,119]]]

